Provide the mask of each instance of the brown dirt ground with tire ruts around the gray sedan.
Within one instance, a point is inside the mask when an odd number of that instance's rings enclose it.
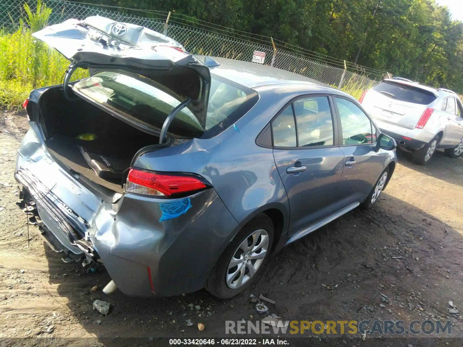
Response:
[[[109,277],[102,266],[65,264],[35,226],[28,231],[25,214],[15,204],[13,178],[16,150],[27,128],[24,115],[0,111],[0,345],[153,346],[160,337],[223,337],[226,320],[256,319],[250,294],[261,293],[275,300],[270,312],[283,321],[449,319],[451,335],[463,336],[463,317],[451,315],[447,304],[451,300],[463,309],[463,158],[437,152],[428,167],[420,167],[399,153],[394,176],[374,208],[351,211],[283,248],[259,282],[238,297],[219,300],[202,290],[140,299],[119,291],[104,294]],[[100,289],[91,292],[95,285]],[[380,293],[388,303],[382,303]],[[107,316],[92,309],[95,299],[111,303]],[[187,326],[187,319],[194,325]],[[290,345],[357,347],[462,346],[463,341],[375,335],[362,341],[359,335],[333,339],[307,332],[286,337]]]

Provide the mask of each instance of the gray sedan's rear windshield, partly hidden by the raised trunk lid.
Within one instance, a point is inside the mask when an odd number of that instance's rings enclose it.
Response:
[[[125,118],[159,131],[180,101],[150,82],[142,76],[103,71],[75,83],[74,88]],[[213,137],[241,118],[256,102],[257,93],[252,89],[212,75],[205,129],[185,107],[170,124],[169,133]]]

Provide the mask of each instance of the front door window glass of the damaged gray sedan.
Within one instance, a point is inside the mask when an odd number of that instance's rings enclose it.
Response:
[[[343,128],[343,144],[373,143],[373,124],[363,111],[347,99],[335,98]]]

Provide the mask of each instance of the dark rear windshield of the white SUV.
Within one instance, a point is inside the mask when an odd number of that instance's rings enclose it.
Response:
[[[373,90],[394,100],[419,105],[429,105],[436,99],[436,96],[431,92],[399,83],[382,82],[374,87]]]

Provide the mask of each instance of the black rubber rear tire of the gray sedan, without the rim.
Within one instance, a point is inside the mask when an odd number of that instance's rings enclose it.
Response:
[[[228,273],[228,265],[232,260],[232,256],[237,251],[238,246],[240,246],[245,239],[250,238],[250,236],[259,229],[263,229],[269,235],[269,244],[267,247],[267,252],[263,258],[262,263],[257,268],[256,273],[250,277],[250,279],[241,285],[239,288],[232,289],[230,288],[225,281],[226,275]],[[220,256],[219,260],[215,264],[211,273],[209,274],[208,279],[206,280],[206,290],[209,291],[212,295],[219,297],[221,299],[228,299],[234,297],[240,292],[244,291],[251,283],[255,282],[256,279],[262,273],[262,269],[267,264],[269,259],[270,251],[272,248],[274,240],[275,230],[272,223],[272,220],[266,214],[259,214],[253,219],[251,219],[236,235],[232,242],[225,248],[224,253]],[[246,270],[245,270],[246,271]]]

